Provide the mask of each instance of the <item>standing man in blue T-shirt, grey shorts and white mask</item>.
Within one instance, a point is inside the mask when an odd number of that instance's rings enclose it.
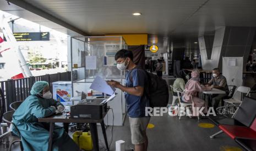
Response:
[[[143,69],[136,68],[132,51],[119,50],[115,55],[115,60],[119,70],[127,69],[125,85],[115,80],[107,81],[107,83],[124,92],[132,143],[135,145],[135,151],[146,151],[148,148],[146,127],[150,117],[145,116],[145,107],[149,107],[149,100],[144,94],[144,90],[148,77]]]

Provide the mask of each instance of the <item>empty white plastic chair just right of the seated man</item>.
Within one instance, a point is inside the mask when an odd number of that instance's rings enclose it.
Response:
[[[241,92],[241,95],[246,94],[246,96],[248,96],[250,88],[246,86],[239,86],[235,93],[233,94],[232,98],[224,99],[223,101],[226,102],[228,105],[232,104],[233,106],[235,106],[235,103],[241,104],[241,96],[238,95],[238,92]]]

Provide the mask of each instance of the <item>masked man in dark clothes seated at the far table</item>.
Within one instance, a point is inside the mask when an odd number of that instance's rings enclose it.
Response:
[[[213,95],[212,100],[208,101],[208,105],[216,109],[219,106],[221,98],[228,94],[227,80],[223,75],[220,74],[219,68],[213,69],[213,78],[211,78],[207,85],[211,85],[213,88],[220,89],[226,92],[226,94]]]

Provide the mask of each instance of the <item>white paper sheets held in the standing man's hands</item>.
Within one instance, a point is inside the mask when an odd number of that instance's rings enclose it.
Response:
[[[90,89],[103,92],[108,95],[112,95],[116,91],[115,88],[107,85],[107,82],[99,76],[94,79],[90,86]]]

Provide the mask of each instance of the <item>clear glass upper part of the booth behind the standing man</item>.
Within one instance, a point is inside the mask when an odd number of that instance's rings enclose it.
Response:
[[[105,79],[124,78],[116,67],[115,54],[127,49],[121,36],[72,37],[72,81],[91,82],[100,75]]]

